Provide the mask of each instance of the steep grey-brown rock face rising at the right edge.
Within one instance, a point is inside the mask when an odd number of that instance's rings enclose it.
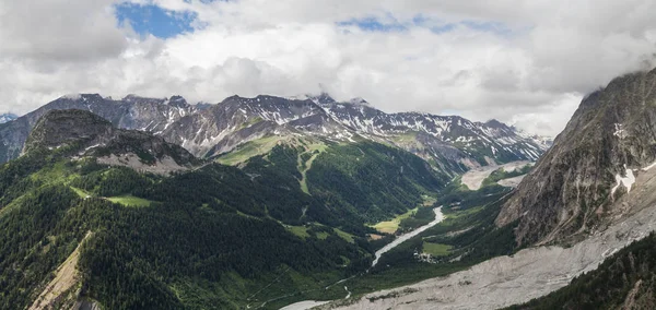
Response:
[[[640,188],[656,160],[655,88],[653,70],[584,98],[496,224],[516,223],[520,245],[546,243],[583,237],[653,203]]]

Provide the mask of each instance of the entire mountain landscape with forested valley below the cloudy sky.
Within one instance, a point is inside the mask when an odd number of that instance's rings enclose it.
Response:
[[[653,308],[654,85],[551,147],[327,94],[58,98],[0,124],[0,309]]]

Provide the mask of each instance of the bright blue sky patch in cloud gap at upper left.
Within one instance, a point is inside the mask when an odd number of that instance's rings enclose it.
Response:
[[[129,22],[141,35],[152,34],[160,38],[169,38],[194,32],[191,24],[196,20],[196,13],[168,11],[153,4],[121,3],[116,5],[116,17],[119,25]]]

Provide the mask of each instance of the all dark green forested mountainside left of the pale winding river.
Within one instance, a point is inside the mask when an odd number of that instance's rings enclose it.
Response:
[[[371,264],[368,219],[443,182],[402,151],[331,148],[306,170],[308,194],[301,148],[164,177],[35,147],[0,166],[0,309],[32,305],[87,233],[70,296],[104,309],[274,308],[320,294]]]

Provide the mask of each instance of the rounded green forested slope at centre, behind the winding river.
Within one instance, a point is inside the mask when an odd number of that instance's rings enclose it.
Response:
[[[370,223],[405,213],[448,182],[421,158],[371,142],[329,147],[314,160],[307,180],[313,195],[349,205]]]

